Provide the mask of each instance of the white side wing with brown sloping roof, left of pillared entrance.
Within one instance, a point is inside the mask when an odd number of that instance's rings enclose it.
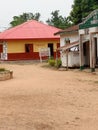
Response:
[[[63,67],[79,67],[79,25],[71,26],[65,30],[58,31],[60,35],[60,51]]]

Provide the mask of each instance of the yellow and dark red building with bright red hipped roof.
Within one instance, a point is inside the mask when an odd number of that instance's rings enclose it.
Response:
[[[56,57],[60,36],[54,33],[60,29],[30,20],[0,33],[1,59],[38,60],[39,49],[50,48],[50,55]]]

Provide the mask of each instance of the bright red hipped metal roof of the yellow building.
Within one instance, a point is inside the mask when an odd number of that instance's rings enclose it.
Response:
[[[0,33],[0,40],[59,39],[60,36],[54,36],[54,33],[57,31],[60,31],[60,29],[46,25],[36,20],[30,20]]]

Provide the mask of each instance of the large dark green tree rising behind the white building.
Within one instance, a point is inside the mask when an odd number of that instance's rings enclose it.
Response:
[[[78,24],[95,9],[98,9],[98,0],[74,0],[69,19]]]

